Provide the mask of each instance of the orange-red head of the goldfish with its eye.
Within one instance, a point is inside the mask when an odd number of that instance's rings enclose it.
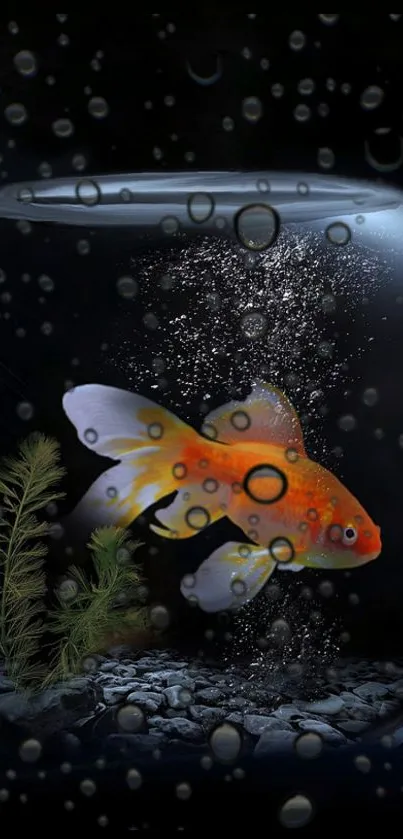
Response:
[[[377,559],[381,529],[357,499],[331,476],[328,503],[319,505],[319,527],[311,530],[311,545],[303,565],[315,568],[355,568]],[[322,509],[321,509],[322,508]]]

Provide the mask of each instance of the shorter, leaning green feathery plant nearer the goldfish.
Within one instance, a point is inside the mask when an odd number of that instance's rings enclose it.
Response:
[[[108,526],[94,531],[88,544],[94,578],[77,566],[70,567],[75,596],[65,600],[59,593],[58,604],[49,613],[48,628],[57,636],[57,646],[45,682],[79,672],[85,657],[101,650],[104,640],[115,631],[147,627],[148,610],[138,596],[142,578],[132,562],[138,545],[123,528]],[[129,601],[133,605],[127,608]]]

